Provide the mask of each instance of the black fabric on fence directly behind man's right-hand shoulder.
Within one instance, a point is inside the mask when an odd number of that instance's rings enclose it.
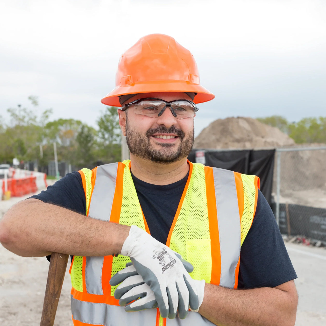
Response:
[[[245,174],[255,174],[260,178],[260,191],[271,204],[275,150],[223,150],[209,151],[194,149],[188,156],[196,162],[196,152],[205,151],[205,165]]]

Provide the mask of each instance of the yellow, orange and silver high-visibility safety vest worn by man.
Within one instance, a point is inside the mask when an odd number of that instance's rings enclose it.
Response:
[[[166,245],[194,266],[194,279],[238,286],[240,248],[256,210],[259,178],[188,162],[189,177]],[[103,221],[149,229],[130,173],[130,160],[82,169],[87,215]],[[198,312],[185,319],[163,319],[158,309],[125,312],[109,280],[129,257],[74,256],[71,310],[75,326],[214,325]]]

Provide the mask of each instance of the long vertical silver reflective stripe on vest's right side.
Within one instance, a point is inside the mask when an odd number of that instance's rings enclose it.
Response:
[[[213,168],[221,250],[220,285],[233,288],[240,257],[240,215],[233,171]]]

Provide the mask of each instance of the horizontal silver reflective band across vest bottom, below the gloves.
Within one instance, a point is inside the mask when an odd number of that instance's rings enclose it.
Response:
[[[111,304],[99,304],[76,300],[71,298],[72,318],[85,324],[104,326],[155,326],[156,309],[146,309],[137,312],[126,312],[124,307]],[[198,312],[188,312],[185,319],[166,320],[167,326],[206,326],[214,325],[208,319],[202,317]]]

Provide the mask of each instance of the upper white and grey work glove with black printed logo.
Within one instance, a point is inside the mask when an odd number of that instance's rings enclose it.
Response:
[[[188,306],[194,311],[199,308],[197,288],[192,286],[193,279],[181,260],[168,246],[155,240],[146,231],[131,226],[121,255],[130,257],[137,273],[150,286],[163,318],[174,318],[177,310],[180,318],[185,318]],[[120,282],[130,276],[121,271],[118,273]],[[119,284],[114,282],[114,276],[110,280],[111,285]]]

